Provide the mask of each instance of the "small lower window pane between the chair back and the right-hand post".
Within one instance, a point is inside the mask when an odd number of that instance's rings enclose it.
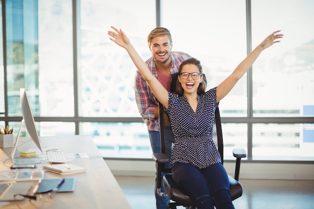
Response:
[[[223,123],[224,159],[234,160],[233,148],[244,148],[247,153],[247,124]]]

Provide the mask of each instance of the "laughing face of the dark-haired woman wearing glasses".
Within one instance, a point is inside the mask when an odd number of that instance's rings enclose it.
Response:
[[[194,64],[184,65],[180,72],[180,76],[178,77],[179,82],[181,83],[181,86],[184,90],[184,94],[197,94],[197,89],[202,82],[203,76],[198,76],[197,79],[193,79],[192,74],[189,74],[189,77],[184,79],[182,73],[201,73],[198,67]]]

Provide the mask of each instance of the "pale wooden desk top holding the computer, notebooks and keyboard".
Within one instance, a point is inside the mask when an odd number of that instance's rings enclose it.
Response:
[[[18,149],[28,150],[29,148],[35,148],[33,141],[28,140],[29,138],[20,138],[19,144],[22,144],[23,141],[27,141],[27,143]],[[84,173],[64,176],[45,172],[45,178],[75,177],[75,191],[56,193],[54,198],[41,202],[29,201],[27,198],[22,201],[11,201],[2,208],[130,208],[119,184],[90,137],[78,135],[41,137],[41,144],[43,149],[59,148],[65,153],[86,153],[89,156],[89,158],[77,158],[69,162],[86,167],[87,170]],[[0,159],[4,160],[11,157],[11,151],[12,148],[1,148]],[[12,162],[6,163],[6,165],[11,164]],[[47,164],[47,162],[42,161],[42,163],[39,163],[37,169],[42,169],[42,165],[44,164]],[[3,163],[1,163],[0,169],[10,170]]]

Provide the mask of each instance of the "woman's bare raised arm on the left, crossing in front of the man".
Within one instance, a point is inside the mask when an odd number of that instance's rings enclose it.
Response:
[[[146,63],[135,51],[134,47],[132,46],[124,32],[121,29],[116,29],[113,26],[111,26],[111,28],[114,31],[108,31],[108,35],[112,37],[109,37],[109,39],[120,47],[123,47],[127,51],[134,65],[144,77],[145,81],[148,83],[149,88],[151,89],[155,97],[164,105],[164,107],[168,107],[169,96],[167,89],[165,89],[164,86],[151,74]]]

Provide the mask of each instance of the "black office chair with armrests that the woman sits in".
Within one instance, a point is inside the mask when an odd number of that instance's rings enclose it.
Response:
[[[171,92],[174,92],[177,85],[178,73],[172,75],[171,79]],[[204,75],[203,80],[206,82],[206,77]],[[167,208],[176,209],[177,206],[182,205],[186,208],[196,208],[193,204],[191,198],[182,192],[180,186],[173,180],[171,175],[171,167],[170,167],[170,156],[166,155],[165,146],[165,120],[164,120],[164,107],[160,103],[159,104],[159,116],[160,116],[160,134],[161,134],[161,152],[153,153],[152,158],[156,162],[156,189],[160,196],[169,196],[171,202],[168,204]],[[216,129],[215,129],[216,127]],[[214,124],[213,139],[218,147],[218,151],[221,155],[222,163],[223,163],[223,137],[222,137],[222,129],[221,129],[221,119],[219,108],[215,111],[215,124]],[[240,163],[241,158],[246,157],[246,152],[242,148],[233,149],[233,156],[236,157],[236,167],[235,167],[235,177],[229,177],[230,182],[230,193],[231,199],[234,200],[242,195],[242,186],[239,183],[239,173],[240,173]],[[162,175],[162,173],[166,173],[166,175]],[[161,184],[163,183],[166,192],[161,191]]]

